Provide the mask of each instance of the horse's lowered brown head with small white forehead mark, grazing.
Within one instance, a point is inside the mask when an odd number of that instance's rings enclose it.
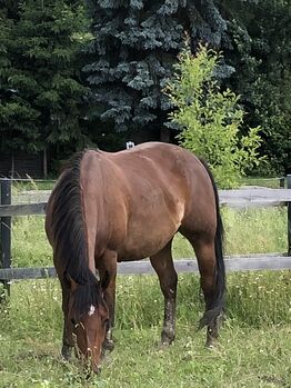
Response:
[[[78,285],[71,280],[68,320],[77,352],[91,364],[94,372],[100,371],[102,345],[109,322],[109,310],[103,299],[106,282]]]

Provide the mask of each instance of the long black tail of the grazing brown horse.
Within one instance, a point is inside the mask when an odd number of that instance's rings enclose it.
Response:
[[[210,177],[213,191],[214,191],[215,209],[217,209],[217,231],[215,231],[215,238],[214,238],[214,250],[215,250],[215,260],[217,260],[215,285],[214,285],[214,292],[213,292],[213,298],[211,300],[211,304],[210,306],[208,306],[208,309],[204,312],[199,324],[199,328],[202,328],[205,325],[211,325],[223,312],[224,294],[225,294],[225,267],[224,267],[224,260],[223,260],[224,230],[223,230],[223,223],[222,223],[220,208],[219,208],[218,188],[214,182],[213,175],[209,169],[209,166],[205,163],[204,160],[200,159],[200,161],[204,166]]]

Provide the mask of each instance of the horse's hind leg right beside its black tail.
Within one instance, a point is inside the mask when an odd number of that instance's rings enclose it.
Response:
[[[215,306],[217,260],[214,237],[207,233],[185,236],[193,246],[200,271],[200,283],[205,300],[205,312],[200,321],[200,327],[207,326],[207,346],[215,345],[219,336],[219,324],[222,307]]]

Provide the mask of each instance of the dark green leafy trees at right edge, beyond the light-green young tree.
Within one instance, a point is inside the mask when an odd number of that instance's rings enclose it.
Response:
[[[273,170],[291,171],[291,3],[284,0],[232,0],[229,32],[233,49],[225,52],[237,71],[229,84],[241,94],[245,122],[261,126]],[[269,172],[265,165],[260,172]]]

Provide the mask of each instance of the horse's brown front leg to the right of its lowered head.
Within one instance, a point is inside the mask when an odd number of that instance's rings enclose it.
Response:
[[[114,251],[107,251],[101,259],[97,260],[97,268],[99,269],[101,283],[104,277],[109,277],[108,287],[103,291],[103,297],[109,309],[109,321],[103,350],[111,351],[114,348],[112,331],[116,314],[117,253]]]

